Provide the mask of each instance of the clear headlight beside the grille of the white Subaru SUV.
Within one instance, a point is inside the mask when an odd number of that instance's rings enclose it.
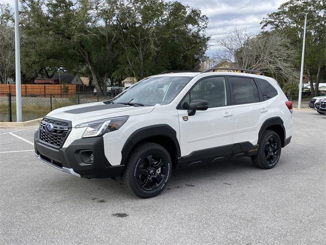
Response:
[[[100,136],[118,130],[126,122],[128,117],[129,116],[119,116],[85,122],[84,124],[78,124],[75,128],[87,127],[83,134],[83,138]]]

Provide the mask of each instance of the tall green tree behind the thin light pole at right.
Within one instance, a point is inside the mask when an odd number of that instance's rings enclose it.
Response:
[[[262,29],[271,27],[272,30],[285,33],[290,38],[291,45],[301,51],[304,27],[302,12],[308,13],[305,71],[311,85],[311,95],[317,95],[319,83],[326,78],[326,2],[290,0],[262,20]],[[296,58],[297,69],[300,68],[300,58],[301,56]]]

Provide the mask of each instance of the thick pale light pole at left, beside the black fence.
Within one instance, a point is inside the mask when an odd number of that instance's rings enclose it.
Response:
[[[16,117],[21,121],[20,41],[18,0],[15,0]]]

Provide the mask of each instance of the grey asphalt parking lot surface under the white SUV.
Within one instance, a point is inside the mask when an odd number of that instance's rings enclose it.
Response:
[[[0,129],[1,244],[325,244],[326,116],[293,121],[275,168],[242,158],[174,171],[145,200],[38,161],[34,128]]]

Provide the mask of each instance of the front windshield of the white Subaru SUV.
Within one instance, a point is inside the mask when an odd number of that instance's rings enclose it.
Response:
[[[139,103],[144,106],[167,105],[192,77],[154,77],[144,79],[112,100],[114,103]]]

